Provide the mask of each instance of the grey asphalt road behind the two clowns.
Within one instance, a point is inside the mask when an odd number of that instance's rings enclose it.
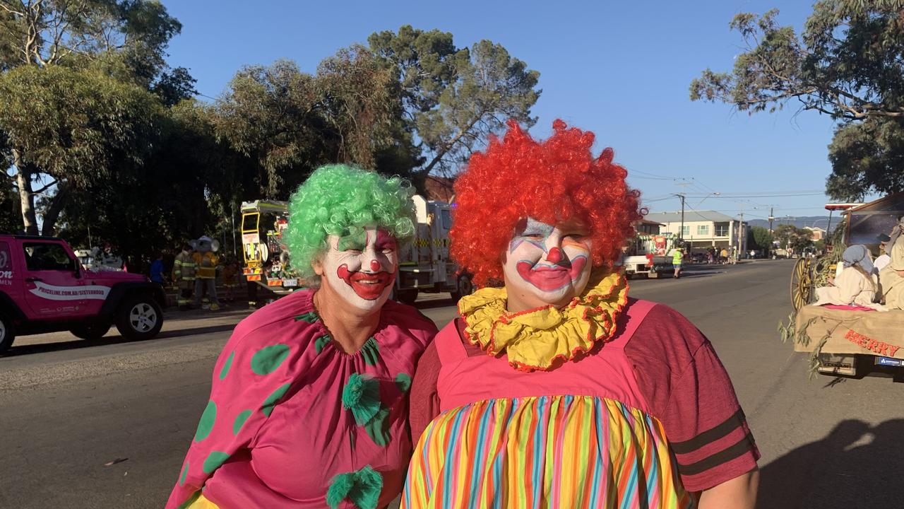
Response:
[[[760,508],[904,507],[904,386],[809,378],[777,335],[792,264],[704,266],[632,281],[631,294],[683,312],[715,345],[763,455]],[[447,296],[418,305],[440,326],[455,313]],[[151,341],[19,338],[0,357],[0,507],[161,507],[245,314],[174,313]]]

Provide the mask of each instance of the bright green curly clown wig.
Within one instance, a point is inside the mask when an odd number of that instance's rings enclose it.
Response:
[[[325,253],[326,235],[349,235],[365,226],[382,228],[404,245],[415,234],[412,195],[404,178],[340,164],[317,168],[289,198],[283,236],[292,266],[312,280],[311,263]]]

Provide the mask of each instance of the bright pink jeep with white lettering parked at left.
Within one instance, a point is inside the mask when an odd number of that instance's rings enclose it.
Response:
[[[160,284],[86,270],[62,239],[0,235],[0,352],[16,334],[71,331],[89,340],[113,324],[127,338],[150,339],[163,326],[164,303]]]

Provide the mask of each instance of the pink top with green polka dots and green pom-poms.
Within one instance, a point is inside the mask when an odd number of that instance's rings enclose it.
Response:
[[[369,509],[399,494],[410,379],[436,326],[389,301],[349,355],[330,340],[313,295],[293,293],[236,327],[167,508],[192,504],[202,489],[221,509]]]

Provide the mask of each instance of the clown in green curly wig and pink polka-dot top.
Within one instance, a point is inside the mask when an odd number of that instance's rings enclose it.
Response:
[[[308,289],[235,328],[167,508],[374,509],[400,493],[407,393],[437,331],[389,300],[412,194],[341,165],[298,188],[285,237]]]

